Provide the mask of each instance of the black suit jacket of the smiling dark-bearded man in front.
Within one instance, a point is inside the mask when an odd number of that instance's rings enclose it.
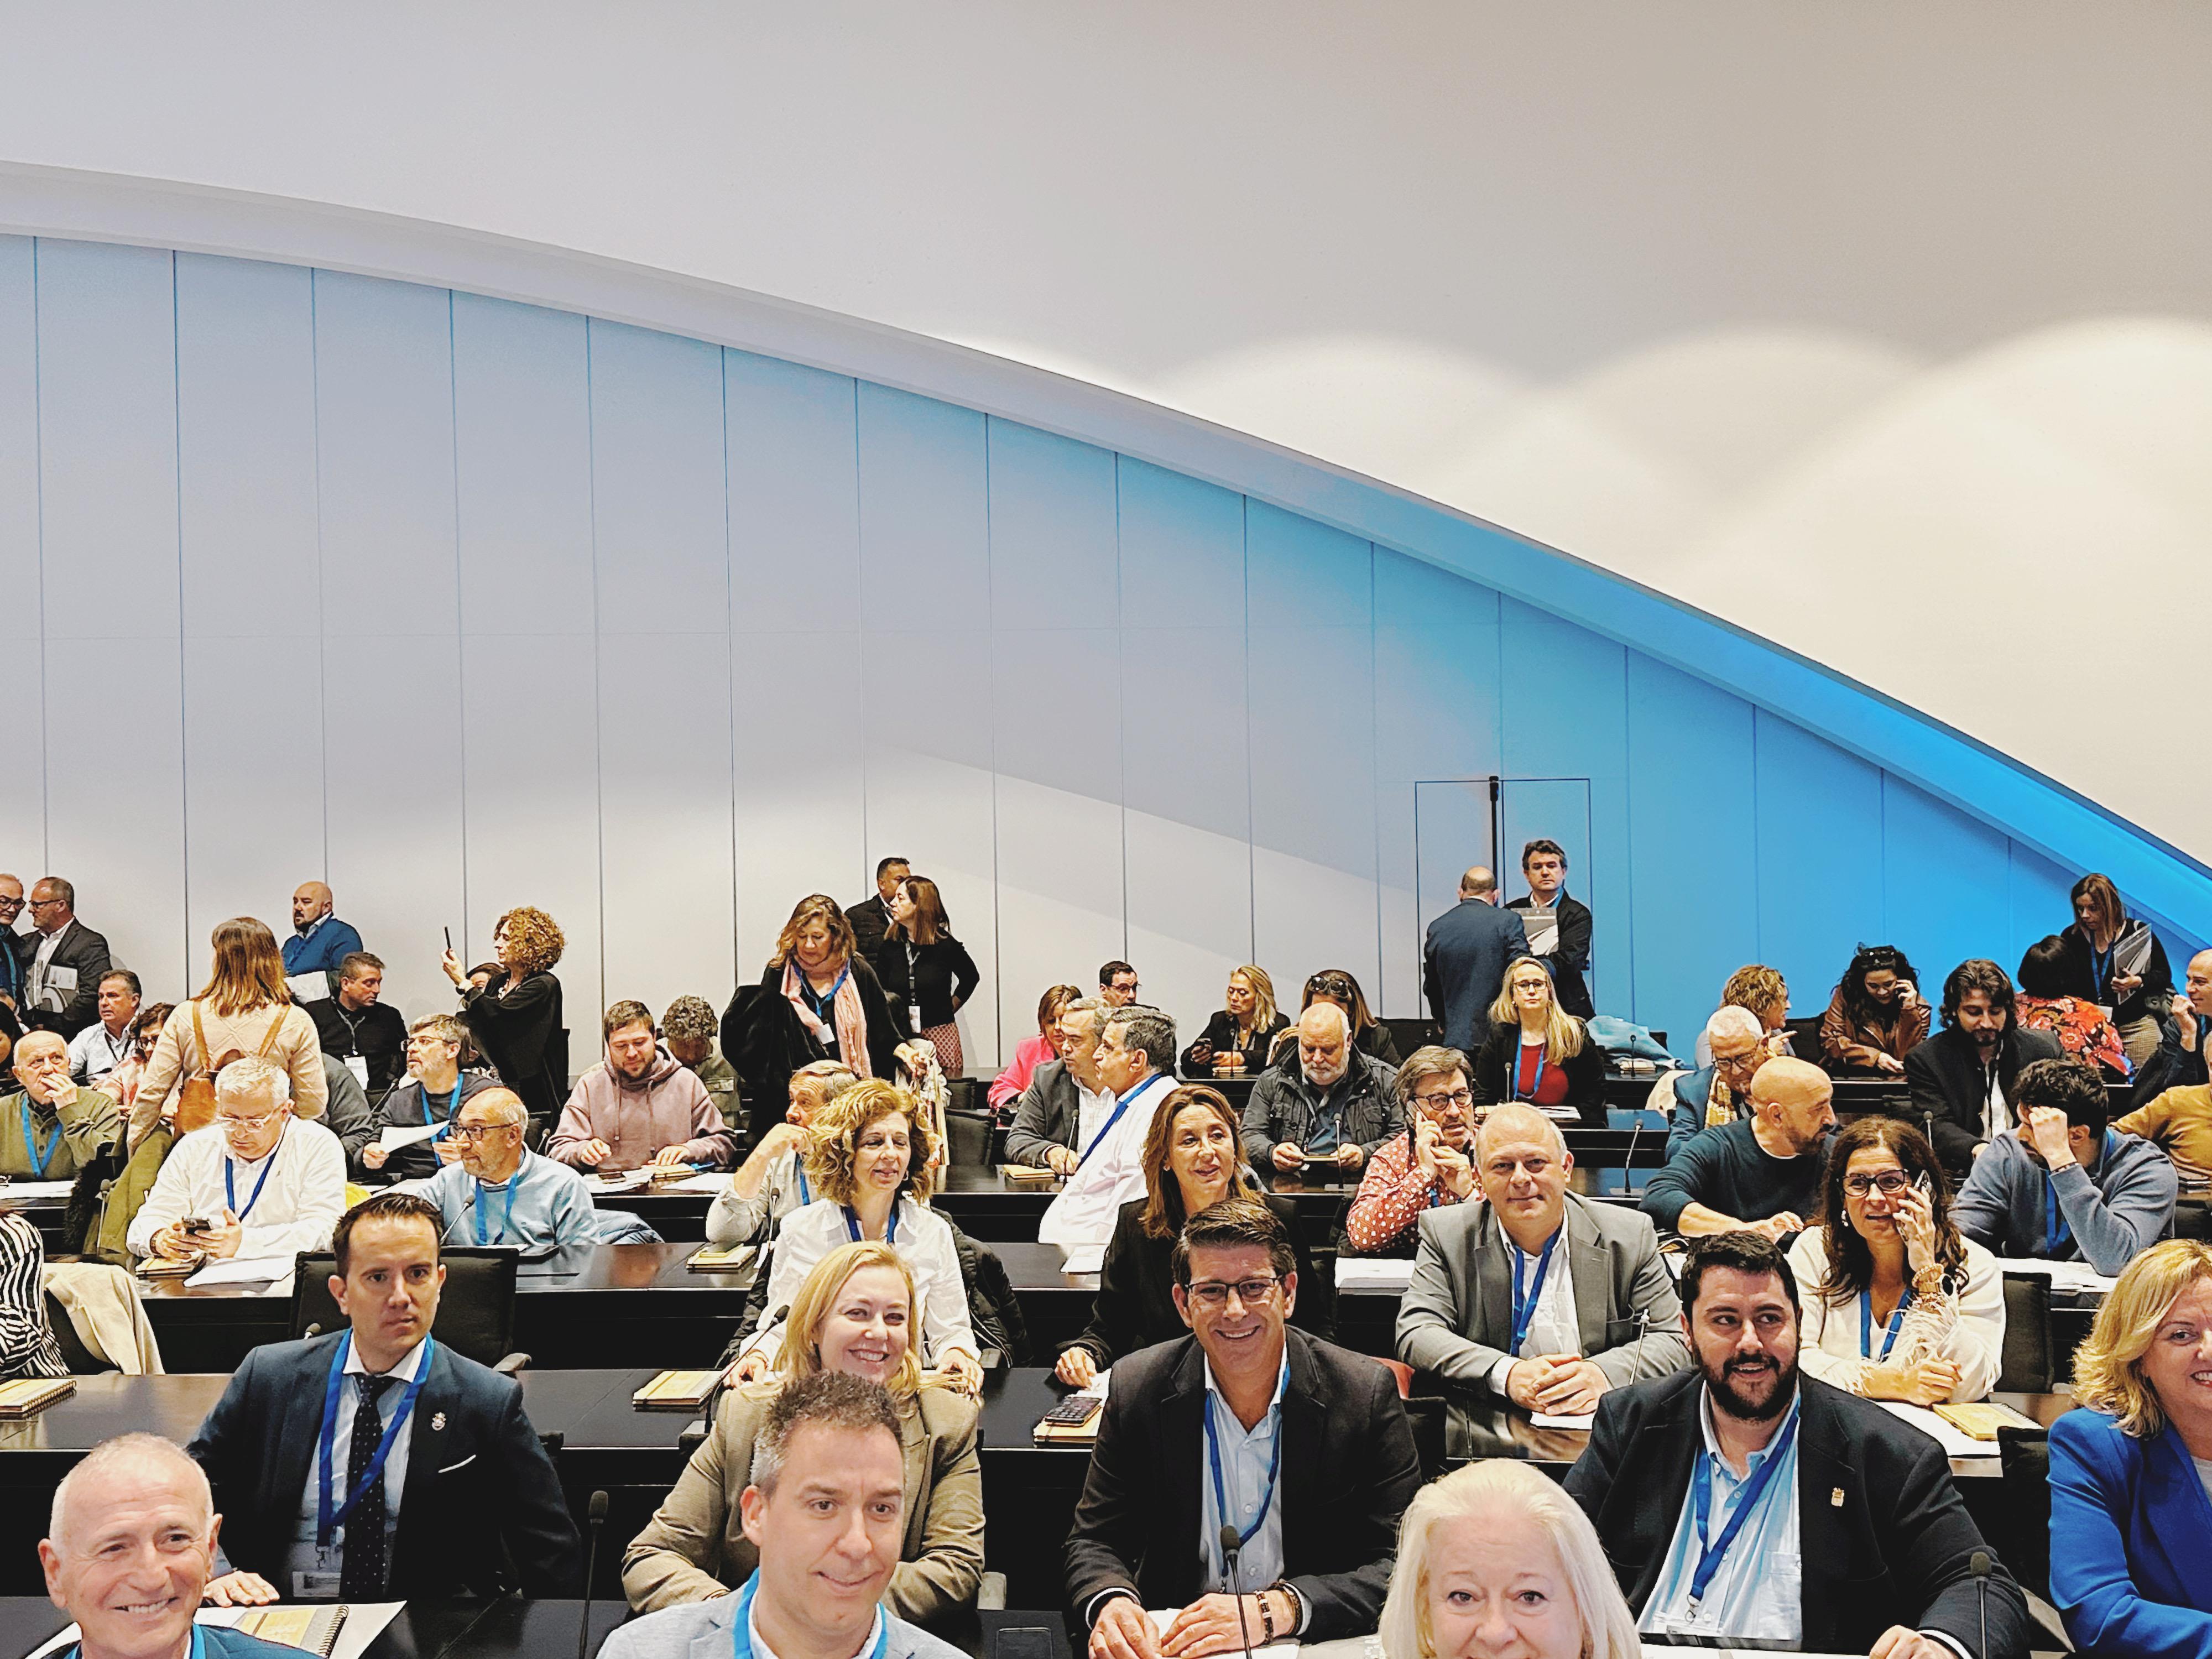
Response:
[[[1597,1402],[1590,1449],[1566,1471],[1639,1615],[1659,1588],[1690,1469],[1705,1447],[1705,1378],[1677,1371]],[[1798,1376],[1798,1540],[1805,1652],[1869,1652],[1893,1624],[1980,1646],[1966,1573],[1989,1548],[1942,1447],[1871,1400]],[[1995,1553],[1991,1553],[1995,1557]],[[1989,1657],[2028,1650],[2028,1604],[2002,1564],[1989,1579]]]

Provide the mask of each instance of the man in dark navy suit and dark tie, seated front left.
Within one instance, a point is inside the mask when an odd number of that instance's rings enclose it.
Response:
[[[429,1338],[440,1230],[411,1192],[347,1210],[330,1292],[352,1327],[257,1347],[199,1425],[188,1451],[215,1486],[232,1566],[208,1586],[215,1601],[575,1588],[575,1520],[522,1389]]]

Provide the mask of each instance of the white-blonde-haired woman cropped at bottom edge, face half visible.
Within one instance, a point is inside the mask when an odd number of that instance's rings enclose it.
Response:
[[[1637,1659],[1597,1528],[1546,1475],[1486,1458],[1420,1489],[1398,1524],[1383,1659]]]

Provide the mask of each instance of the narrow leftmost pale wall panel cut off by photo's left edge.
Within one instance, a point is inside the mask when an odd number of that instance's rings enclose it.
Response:
[[[0,593],[15,641],[15,739],[0,790],[0,867],[46,865],[46,637],[38,573],[38,290],[29,237],[0,237]],[[29,911],[22,918],[29,927]]]

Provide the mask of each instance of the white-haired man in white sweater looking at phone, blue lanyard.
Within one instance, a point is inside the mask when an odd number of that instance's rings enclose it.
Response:
[[[215,1077],[215,1121],[170,1150],[131,1221],[133,1256],[281,1256],[327,1250],[345,1212],[345,1148],[292,1115],[285,1068],[246,1055]]]

